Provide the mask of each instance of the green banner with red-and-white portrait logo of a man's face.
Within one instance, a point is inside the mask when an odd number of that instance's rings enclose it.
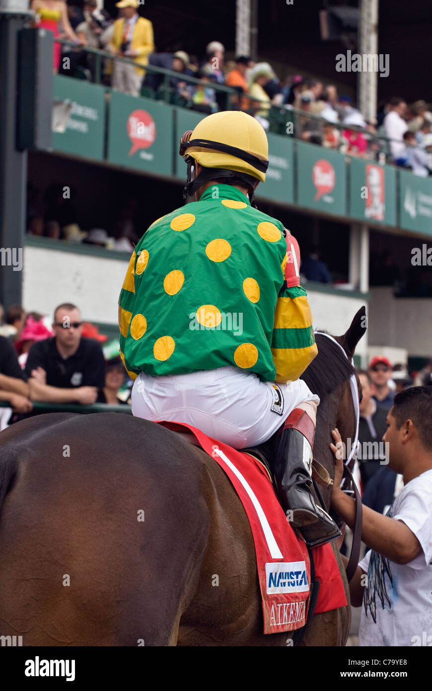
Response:
[[[373,161],[350,158],[349,215],[396,225],[396,171]]]

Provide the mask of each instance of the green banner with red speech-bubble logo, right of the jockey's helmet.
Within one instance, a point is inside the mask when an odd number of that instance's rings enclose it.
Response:
[[[297,204],[346,215],[346,162],[337,151],[296,142]]]

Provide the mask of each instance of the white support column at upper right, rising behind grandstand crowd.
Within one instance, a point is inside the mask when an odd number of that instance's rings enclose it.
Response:
[[[378,48],[378,1],[360,0],[360,55],[377,55]],[[376,59],[378,63],[378,57]],[[368,61],[369,67],[371,66]],[[378,64],[376,64],[376,70]],[[359,72],[359,107],[365,120],[373,120],[377,112],[377,71]]]

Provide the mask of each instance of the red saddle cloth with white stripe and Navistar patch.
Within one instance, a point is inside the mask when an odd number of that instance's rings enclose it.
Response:
[[[242,451],[212,439],[188,424],[164,422],[172,430],[189,430],[228,475],[243,504],[253,534],[264,634],[300,629],[306,623],[311,565],[304,540],[297,536],[277,501],[262,465]],[[315,613],[347,605],[331,545],[313,550],[315,578],[320,580]]]

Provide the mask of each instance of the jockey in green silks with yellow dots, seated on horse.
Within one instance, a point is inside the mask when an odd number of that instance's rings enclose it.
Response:
[[[251,115],[208,115],[185,133],[184,200],[130,259],[119,297],[132,413],[184,422],[235,448],[275,435],[280,500],[311,547],[340,535],[315,504],[320,399],[299,377],[317,354],[295,238],[254,202],[268,142]]]

